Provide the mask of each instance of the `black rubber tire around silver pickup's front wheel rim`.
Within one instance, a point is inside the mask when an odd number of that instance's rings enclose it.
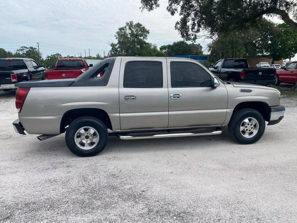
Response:
[[[248,136],[250,138],[246,138],[242,135],[242,131],[240,130],[240,128],[242,126],[242,122],[249,117],[257,120],[258,131],[253,136],[252,135]],[[253,130],[252,129],[249,129],[249,130],[251,130],[250,133],[252,133]],[[265,131],[265,120],[263,118],[263,115],[259,111],[256,111],[254,109],[240,109],[238,111],[235,111],[235,113],[232,115],[232,118],[228,124],[229,134],[231,135],[234,141],[240,144],[252,144],[257,142],[262,137],[264,131]],[[245,130],[243,130],[243,132],[245,132]]]

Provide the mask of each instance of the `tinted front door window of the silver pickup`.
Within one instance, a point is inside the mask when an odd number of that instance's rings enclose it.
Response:
[[[198,64],[191,62],[171,62],[171,87],[210,87],[210,75]]]

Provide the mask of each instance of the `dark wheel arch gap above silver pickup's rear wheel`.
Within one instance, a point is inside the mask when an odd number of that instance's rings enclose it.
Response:
[[[106,111],[95,108],[80,108],[71,109],[63,114],[60,122],[60,133],[65,132],[65,127],[68,126],[72,121],[84,116],[96,117],[106,125],[107,129],[109,128],[112,130],[112,124]]]

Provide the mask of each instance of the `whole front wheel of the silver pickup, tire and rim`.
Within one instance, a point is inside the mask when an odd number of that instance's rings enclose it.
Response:
[[[254,109],[236,111],[229,124],[228,131],[233,140],[240,144],[257,142],[265,131],[263,115]]]

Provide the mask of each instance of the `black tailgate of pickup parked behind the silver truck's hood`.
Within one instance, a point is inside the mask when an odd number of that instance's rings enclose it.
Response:
[[[275,68],[247,68],[244,69],[245,80],[274,80]]]

